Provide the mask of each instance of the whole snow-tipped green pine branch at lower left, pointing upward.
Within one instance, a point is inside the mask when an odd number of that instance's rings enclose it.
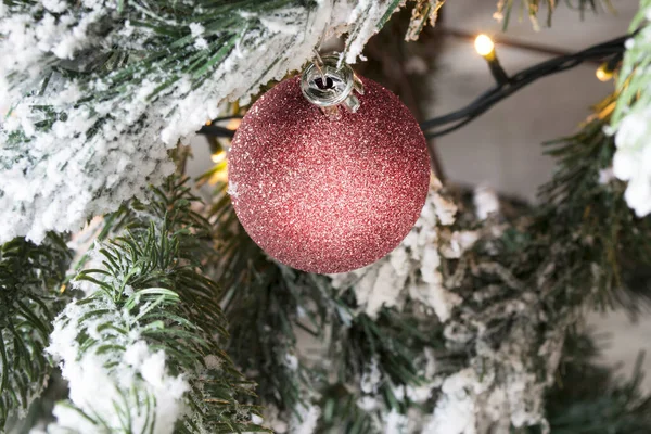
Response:
[[[205,220],[182,183],[166,186],[127,217],[126,234],[97,243],[74,280],[85,297],[54,320],[47,350],[69,400],[48,432],[259,431],[237,401],[251,384],[215,341],[226,335],[217,286],[189,259]]]

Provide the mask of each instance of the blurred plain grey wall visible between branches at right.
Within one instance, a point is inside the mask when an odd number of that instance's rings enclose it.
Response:
[[[566,2],[558,3],[551,28],[541,22],[536,31],[528,17],[512,16],[502,33],[501,24],[492,18],[494,1],[448,1],[438,28],[443,48],[432,76],[435,98],[427,116],[457,110],[493,85],[485,62],[474,51],[475,35],[485,33],[494,38],[503,68],[512,74],[626,34],[639,5],[637,0],[615,0],[615,14],[600,10],[582,17]],[[546,14],[540,16],[544,20]],[[575,132],[590,114],[590,105],[613,90],[612,80],[597,79],[598,66],[586,63],[542,78],[465,127],[438,138],[435,146],[447,179],[535,201],[537,187],[553,170],[551,159],[541,154],[540,143]],[[622,363],[622,374],[633,372],[640,350],[647,353],[644,387],[651,391],[651,312],[635,322],[625,312],[590,314],[588,319],[595,332],[604,335],[603,362]]]

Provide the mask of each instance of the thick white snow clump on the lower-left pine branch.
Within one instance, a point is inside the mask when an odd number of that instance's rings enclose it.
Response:
[[[88,252],[85,268],[105,270],[106,257],[100,252],[106,247],[95,243]],[[131,270],[139,267],[129,264],[129,258],[117,260]],[[111,294],[97,280],[72,283],[84,297],[71,302],[54,319],[46,348],[69,390],[68,400],[53,409],[56,422],[48,425],[50,434],[171,434],[176,422],[189,411],[190,382],[196,372],[178,373],[176,369],[171,373],[166,353],[148,343],[146,334],[151,336],[169,327],[163,321],[142,321],[159,302],[136,295],[129,307],[115,303],[115,296],[135,294],[131,285],[125,284],[126,279],[126,275],[100,279],[113,286]],[[145,294],[158,290],[140,291]],[[207,370],[220,368],[215,355],[205,355],[204,360]]]

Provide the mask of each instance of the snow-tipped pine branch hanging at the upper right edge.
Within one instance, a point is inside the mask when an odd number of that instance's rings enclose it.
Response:
[[[624,196],[639,216],[651,213],[651,0],[641,0],[640,11],[630,25],[617,88],[620,95],[613,114],[617,152],[614,175],[628,181]]]

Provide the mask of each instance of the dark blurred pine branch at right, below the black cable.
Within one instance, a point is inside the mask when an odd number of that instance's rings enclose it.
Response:
[[[614,97],[597,106],[577,135],[547,144],[558,162],[553,179],[541,188],[548,206],[538,227],[546,250],[564,257],[547,256],[557,267],[551,295],[560,305],[580,305],[586,299],[598,307],[626,307],[639,311],[651,302],[651,220],[638,219],[628,208],[626,184],[612,173],[617,151],[614,138],[604,132]],[[574,282],[583,282],[580,285]],[[550,298],[551,299],[551,298]],[[648,305],[647,305],[648,306]]]

